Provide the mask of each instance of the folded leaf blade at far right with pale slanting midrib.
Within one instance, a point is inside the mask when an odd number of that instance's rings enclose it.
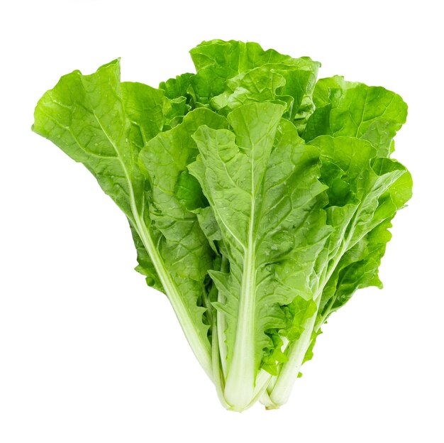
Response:
[[[338,180],[349,190],[342,202],[335,196],[326,208],[327,222],[335,230],[328,243],[327,282],[324,279],[318,319],[323,322],[358,288],[382,287],[377,271],[391,236],[387,229],[411,197],[411,177],[396,160],[376,157],[376,149],[366,141],[321,136],[311,143],[320,149],[321,180],[329,192]]]

